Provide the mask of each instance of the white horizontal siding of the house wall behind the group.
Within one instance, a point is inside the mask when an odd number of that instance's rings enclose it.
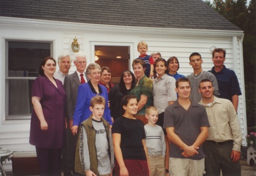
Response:
[[[247,134],[242,31],[214,31],[214,30],[182,30],[166,28],[123,27],[96,24],[65,23],[58,21],[28,20],[0,17],[0,145],[13,151],[34,150],[29,144],[30,120],[6,120],[5,113],[5,71],[6,53],[5,39],[26,39],[53,41],[53,56],[58,58],[62,53],[72,58],[75,53],[71,50],[74,37],[78,39],[80,51],[87,54],[87,64],[94,62],[94,44],[126,45],[130,46],[130,60],[137,58],[137,44],[145,41],[148,44],[148,54],[159,51],[164,59],[177,56],[180,62],[180,74],[187,76],[193,72],[189,65],[189,55],[199,52],[204,63],[202,67],[208,71],[213,66],[209,48],[216,46],[226,49],[225,65],[236,72],[243,95],[239,96],[239,120],[243,131],[243,145],[246,145]],[[236,41],[234,41],[234,37]],[[233,48],[236,46],[236,48]],[[237,59],[234,60],[233,56]],[[129,63],[131,69],[131,62]],[[58,69],[56,69],[58,70]],[[76,70],[72,63],[70,73]],[[10,170],[11,164],[5,164]]]

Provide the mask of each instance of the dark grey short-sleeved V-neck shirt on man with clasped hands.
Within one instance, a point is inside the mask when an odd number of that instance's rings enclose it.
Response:
[[[209,127],[209,121],[205,107],[191,102],[188,110],[185,110],[178,101],[166,107],[163,128],[174,127],[175,134],[186,145],[191,146],[201,132],[201,127]],[[183,150],[174,143],[170,143],[170,157],[184,158]],[[200,160],[205,157],[202,146],[198,149],[199,154],[189,159]]]

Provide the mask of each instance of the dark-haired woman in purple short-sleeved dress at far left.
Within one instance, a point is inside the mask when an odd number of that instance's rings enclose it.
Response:
[[[54,58],[44,58],[33,82],[33,111],[30,144],[35,146],[40,175],[61,175],[61,154],[65,145],[65,98],[62,82],[55,80]]]

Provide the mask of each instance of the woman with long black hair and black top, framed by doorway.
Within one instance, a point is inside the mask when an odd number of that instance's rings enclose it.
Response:
[[[109,109],[111,112],[111,117],[113,120],[122,116],[122,105],[121,100],[123,96],[129,94],[131,89],[135,85],[135,77],[134,74],[130,70],[125,70],[121,74],[119,84],[116,84],[108,94],[109,100]]]

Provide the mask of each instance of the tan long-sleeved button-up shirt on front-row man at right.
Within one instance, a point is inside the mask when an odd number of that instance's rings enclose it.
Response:
[[[199,104],[205,106],[209,123],[207,141],[224,142],[233,140],[233,149],[240,152],[242,135],[239,119],[230,100],[217,98],[207,105],[202,100]]]

